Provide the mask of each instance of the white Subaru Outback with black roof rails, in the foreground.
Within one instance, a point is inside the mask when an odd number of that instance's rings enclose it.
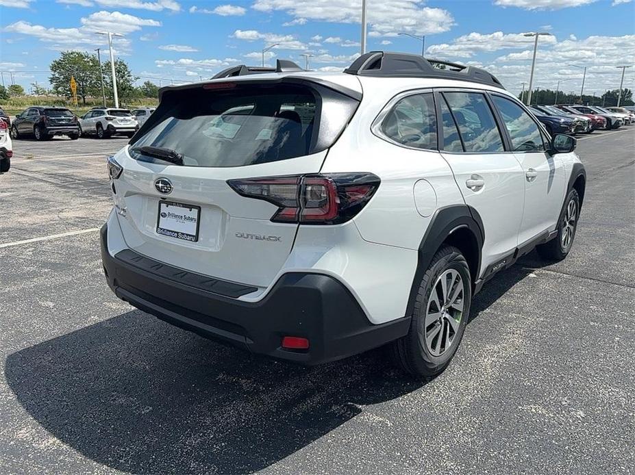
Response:
[[[238,66],[160,90],[109,159],[113,292],[162,320],[306,364],[391,344],[443,371],[473,295],[571,249],[586,175],[472,66],[371,52],[343,73]]]

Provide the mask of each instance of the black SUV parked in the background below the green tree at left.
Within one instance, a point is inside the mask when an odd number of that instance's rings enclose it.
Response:
[[[12,138],[34,136],[36,140],[49,140],[53,136],[79,138],[79,122],[66,107],[29,107],[18,114],[11,125]]]

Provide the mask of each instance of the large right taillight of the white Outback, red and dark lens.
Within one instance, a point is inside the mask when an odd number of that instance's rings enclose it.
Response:
[[[334,173],[229,180],[227,184],[241,196],[276,205],[273,222],[340,224],[366,206],[379,187],[379,177]]]

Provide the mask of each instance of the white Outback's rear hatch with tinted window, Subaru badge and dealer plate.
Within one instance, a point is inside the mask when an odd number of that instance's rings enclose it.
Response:
[[[319,172],[357,105],[308,81],[216,81],[164,91],[115,157],[124,168],[114,200],[125,208],[119,222],[127,245],[178,268],[267,287],[298,227],[272,221],[281,207],[269,194],[295,201],[295,185],[279,177]],[[278,178],[242,183],[254,177]],[[240,190],[230,185],[238,181]],[[249,187],[258,199],[245,196]]]

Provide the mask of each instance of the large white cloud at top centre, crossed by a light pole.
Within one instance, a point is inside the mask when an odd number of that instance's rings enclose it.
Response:
[[[370,36],[406,33],[434,34],[448,31],[454,18],[441,8],[422,7],[421,0],[384,0],[368,9]],[[360,0],[256,0],[260,12],[283,11],[294,18],[332,23],[360,23]]]

